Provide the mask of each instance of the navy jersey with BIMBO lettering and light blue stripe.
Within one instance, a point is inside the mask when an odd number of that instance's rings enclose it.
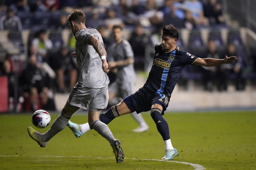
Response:
[[[185,65],[193,64],[197,58],[180,50],[178,46],[173,51],[165,53],[162,43],[156,44],[153,66],[143,88],[156,94],[170,96]]]

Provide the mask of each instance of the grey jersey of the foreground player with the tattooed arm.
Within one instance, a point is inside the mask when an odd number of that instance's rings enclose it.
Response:
[[[94,36],[103,45],[101,34],[92,28],[81,29],[75,34],[75,51],[79,67],[78,82],[89,88],[102,88],[109,84],[107,74],[102,70],[102,61],[92,45],[88,45],[87,37]]]

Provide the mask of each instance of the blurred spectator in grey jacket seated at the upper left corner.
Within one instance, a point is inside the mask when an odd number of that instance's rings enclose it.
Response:
[[[0,18],[0,29],[9,31],[22,31],[21,19],[14,15],[16,8],[10,6],[7,9],[6,15]]]

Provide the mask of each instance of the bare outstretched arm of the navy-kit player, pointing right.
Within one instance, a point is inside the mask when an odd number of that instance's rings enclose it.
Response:
[[[205,67],[211,67],[211,66],[217,66],[222,64],[231,63],[232,61],[236,60],[237,57],[231,56],[227,57],[225,59],[214,59],[214,58],[197,58],[193,64],[197,66],[205,66]]]

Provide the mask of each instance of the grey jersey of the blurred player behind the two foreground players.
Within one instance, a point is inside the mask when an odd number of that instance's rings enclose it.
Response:
[[[111,54],[113,61],[122,61],[126,60],[128,57],[133,58],[133,49],[131,48],[129,42],[123,39],[120,43],[115,43],[111,46]],[[127,81],[135,82],[135,71],[133,64],[125,67],[118,67],[117,81],[120,83],[125,83]]]

